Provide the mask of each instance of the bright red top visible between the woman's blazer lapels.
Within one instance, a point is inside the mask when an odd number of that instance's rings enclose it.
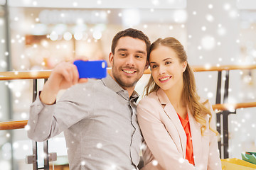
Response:
[[[186,159],[189,163],[195,165],[194,159],[193,159],[193,145],[192,145],[192,137],[191,137],[191,130],[189,126],[189,120],[188,120],[188,114],[186,115],[186,119],[181,118],[180,115],[178,115],[178,118],[181,120],[181,125],[183,129],[185,130],[187,142],[186,142]]]

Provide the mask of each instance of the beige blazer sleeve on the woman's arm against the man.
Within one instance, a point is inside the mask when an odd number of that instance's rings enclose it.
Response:
[[[155,107],[158,104],[156,102],[143,100],[137,107],[139,126],[147,147],[149,147],[154,158],[163,169],[195,169],[193,164],[183,159],[183,155],[178,152],[174,140],[172,140],[171,135],[169,135],[165,125],[159,118],[159,111]],[[146,167],[149,167],[146,169],[154,169],[152,163],[149,164],[146,165]]]

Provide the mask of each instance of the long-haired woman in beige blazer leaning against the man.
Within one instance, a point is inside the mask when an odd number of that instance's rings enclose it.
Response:
[[[186,52],[175,38],[150,48],[151,77],[137,107],[143,169],[220,170],[213,109],[196,92]]]

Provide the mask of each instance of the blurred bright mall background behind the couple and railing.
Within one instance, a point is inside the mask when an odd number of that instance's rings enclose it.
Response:
[[[192,66],[256,64],[255,0],[0,0],[0,72],[53,69],[76,55],[108,60],[113,36],[125,28],[151,42],[175,37]],[[255,71],[230,72],[229,103],[256,101]],[[195,75],[198,93],[214,104],[218,72]],[[27,120],[31,91],[30,80],[0,81],[0,121]],[[256,152],[255,120],[256,108],[230,115],[230,158]],[[49,152],[57,152],[53,164],[68,164],[63,134],[49,140]],[[0,169],[32,169],[31,153],[25,129],[0,131]]]

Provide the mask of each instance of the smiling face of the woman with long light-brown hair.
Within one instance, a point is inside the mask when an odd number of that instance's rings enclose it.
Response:
[[[183,86],[183,72],[187,62],[180,62],[171,47],[159,45],[149,55],[152,77],[164,91],[174,86]]]

